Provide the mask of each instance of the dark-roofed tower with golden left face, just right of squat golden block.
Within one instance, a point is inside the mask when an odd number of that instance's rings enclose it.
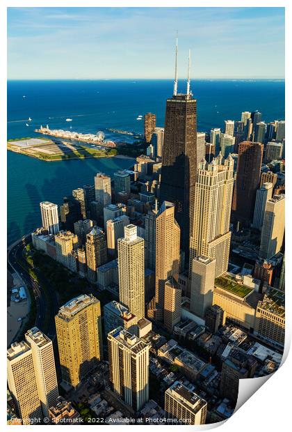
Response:
[[[97,268],[105,264],[107,259],[106,234],[94,226],[86,236],[87,277],[92,284],[97,281]]]

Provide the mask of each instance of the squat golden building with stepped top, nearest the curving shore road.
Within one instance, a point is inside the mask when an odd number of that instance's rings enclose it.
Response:
[[[78,237],[71,231],[59,231],[55,236],[56,260],[76,272],[76,257],[74,251],[78,249]]]

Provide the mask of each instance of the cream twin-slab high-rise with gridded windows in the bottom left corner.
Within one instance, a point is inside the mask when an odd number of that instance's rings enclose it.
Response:
[[[8,387],[22,424],[33,424],[47,417],[58,397],[58,385],[51,340],[37,327],[25,338],[7,350]]]

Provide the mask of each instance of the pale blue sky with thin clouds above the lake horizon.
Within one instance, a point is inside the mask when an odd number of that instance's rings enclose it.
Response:
[[[8,8],[8,79],[284,78],[284,8]]]

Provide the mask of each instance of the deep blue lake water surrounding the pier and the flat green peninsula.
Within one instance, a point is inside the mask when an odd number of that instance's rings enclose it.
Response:
[[[179,82],[179,91],[185,87],[185,82]],[[280,80],[197,80],[192,90],[200,131],[222,128],[227,119],[240,120],[241,111],[259,109],[267,122],[284,119]],[[66,130],[71,125],[84,133],[103,130],[107,139],[125,141],[129,137],[106,128],[142,133],[143,121],[136,118],[146,112],[156,114],[157,125],[163,126],[165,100],[171,95],[170,80],[10,81],[8,139],[34,137],[33,129],[49,124],[51,129]],[[98,171],[113,175],[132,163],[119,158],[43,162],[8,152],[8,242],[40,226],[40,201],[61,203],[72,189],[92,184]]]

